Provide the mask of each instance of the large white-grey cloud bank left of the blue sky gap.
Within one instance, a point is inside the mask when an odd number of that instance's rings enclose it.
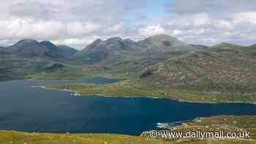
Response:
[[[0,43],[48,39],[84,47],[91,37],[121,34],[123,18],[146,0],[0,0]]]

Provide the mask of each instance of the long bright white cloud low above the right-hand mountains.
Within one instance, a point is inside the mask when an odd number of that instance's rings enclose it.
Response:
[[[252,40],[256,37],[256,12],[233,13],[228,18],[217,18],[206,12],[176,15],[165,23],[141,28],[139,34],[148,37],[161,33],[170,34],[189,43],[215,45],[219,42],[237,42],[250,45],[256,42],[256,39]]]

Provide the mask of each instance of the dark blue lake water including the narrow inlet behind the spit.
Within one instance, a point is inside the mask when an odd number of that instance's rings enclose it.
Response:
[[[95,78],[72,83],[115,83]],[[15,80],[0,83],[0,129],[25,132],[104,132],[138,135],[157,123],[211,115],[256,115],[256,105],[197,104],[168,99],[70,96],[31,86],[71,82]]]

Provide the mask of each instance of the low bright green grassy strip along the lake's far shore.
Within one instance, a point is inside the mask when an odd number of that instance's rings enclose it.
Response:
[[[129,77],[129,80],[108,85],[70,84],[65,86],[48,86],[48,88],[70,89],[78,91],[78,93],[85,96],[154,97],[185,102],[256,102],[255,96],[185,88],[168,88],[156,86],[148,79],[138,80],[133,77]]]

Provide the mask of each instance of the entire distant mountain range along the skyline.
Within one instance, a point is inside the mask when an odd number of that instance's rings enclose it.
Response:
[[[3,51],[4,48],[0,48]],[[72,58],[85,62],[85,64],[94,64],[101,61],[108,61],[116,57],[133,57],[133,58],[169,58],[187,54],[192,51],[215,51],[224,52],[229,50],[256,51],[256,46],[242,47],[227,42],[219,45],[208,47],[206,45],[188,45],[181,42],[175,37],[166,34],[157,34],[135,42],[131,39],[121,39],[121,37],[110,37],[102,40],[96,39],[87,45],[83,50],[78,51],[67,45],[54,45],[50,41],[38,42],[35,39],[22,39],[15,45],[7,47],[11,53],[26,58]],[[8,51],[5,50],[4,52]]]

